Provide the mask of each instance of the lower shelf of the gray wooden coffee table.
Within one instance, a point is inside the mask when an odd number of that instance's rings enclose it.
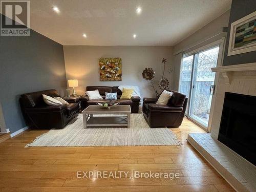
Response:
[[[127,116],[115,116],[115,117],[90,117],[86,125],[84,125],[84,129],[89,127],[100,127],[100,126],[121,126],[130,128],[128,125]]]

